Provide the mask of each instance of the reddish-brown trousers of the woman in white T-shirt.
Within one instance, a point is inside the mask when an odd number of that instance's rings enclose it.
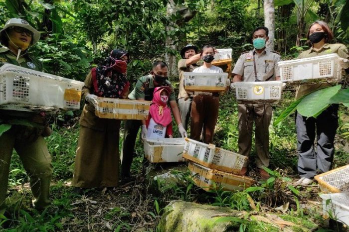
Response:
[[[190,138],[199,141],[203,128],[203,142],[212,143],[217,122],[219,97],[197,95],[192,99],[190,113]]]

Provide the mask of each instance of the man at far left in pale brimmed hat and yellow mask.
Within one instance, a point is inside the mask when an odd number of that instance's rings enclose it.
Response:
[[[8,63],[41,71],[40,61],[27,53],[27,48],[35,44],[39,38],[40,33],[25,20],[9,19],[0,30],[0,42],[3,45],[0,49],[0,66]],[[0,124],[11,124],[13,119],[19,119],[31,126],[12,124],[10,129],[0,136],[0,215],[5,211],[8,173],[13,148],[30,177],[33,206],[36,209],[44,209],[50,205],[51,155],[48,153],[43,138],[51,133],[48,122],[44,113],[0,110]]]

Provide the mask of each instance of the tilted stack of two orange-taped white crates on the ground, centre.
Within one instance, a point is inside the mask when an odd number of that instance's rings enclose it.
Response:
[[[184,138],[183,158],[189,161],[195,184],[208,191],[213,188],[224,190],[243,190],[254,182],[252,179],[238,175],[246,156]]]

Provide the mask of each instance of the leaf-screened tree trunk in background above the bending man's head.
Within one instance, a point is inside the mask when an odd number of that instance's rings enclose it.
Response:
[[[167,15],[171,15],[174,13],[175,9],[175,3],[173,0],[170,0],[166,5],[166,13]],[[166,28],[167,31],[173,30],[174,28],[172,26],[168,26]],[[167,36],[166,38],[166,48],[167,50],[176,50],[176,46],[174,45],[174,40],[171,38],[171,36]],[[175,56],[169,53],[168,51],[165,54],[165,61],[167,65],[169,66],[169,75],[174,76],[177,74],[177,65],[176,65],[176,59]]]

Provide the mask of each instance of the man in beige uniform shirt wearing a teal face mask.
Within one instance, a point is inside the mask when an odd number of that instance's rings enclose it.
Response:
[[[281,57],[265,47],[268,41],[268,28],[257,27],[253,31],[253,46],[255,49],[242,53],[232,71],[233,82],[244,81],[275,81],[280,80],[278,62]],[[269,124],[273,109],[270,104],[239,104],[239,153],[248,156],[252,146],[252,127],[255,122],[256,165],[259,174],[268,178],[263,167],[269,166]],[[247,173],[247,162],[240,174]]]

